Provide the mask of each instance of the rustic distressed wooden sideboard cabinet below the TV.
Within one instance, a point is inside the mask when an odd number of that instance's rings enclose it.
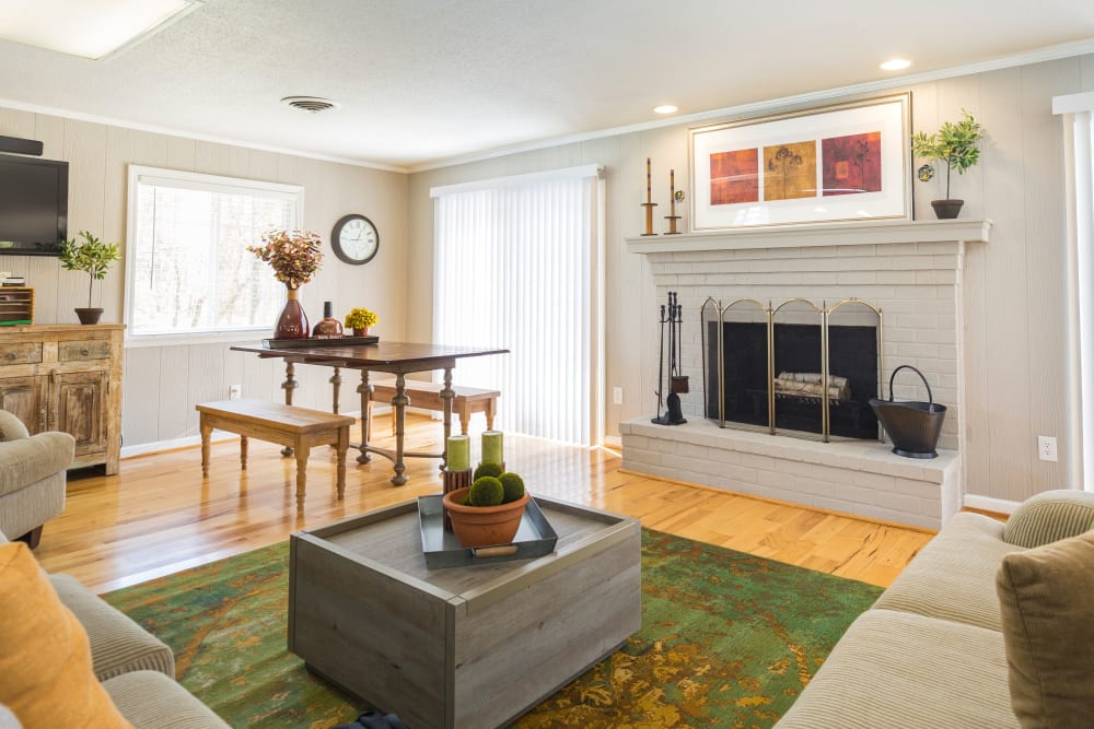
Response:
[[[125,325],[0,327],[0,408],[32,433],[75,438],[69,468],[105,463],[121,454],[121,357]]]

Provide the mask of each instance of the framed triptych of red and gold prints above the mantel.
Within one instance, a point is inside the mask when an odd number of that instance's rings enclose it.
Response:
[[[690,131],[695,231],[911,217],[910,94]]]

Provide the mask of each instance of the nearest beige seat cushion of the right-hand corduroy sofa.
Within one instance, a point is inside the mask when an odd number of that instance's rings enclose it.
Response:
[[[1003,636],[965,623],[868,610],[776,726],[1017,727]]]

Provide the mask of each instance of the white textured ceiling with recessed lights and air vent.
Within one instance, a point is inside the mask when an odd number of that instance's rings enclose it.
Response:
[[[1090,0],[203,0],[101,61],[0,40],[0,104],[415,169],[1092,39]]]

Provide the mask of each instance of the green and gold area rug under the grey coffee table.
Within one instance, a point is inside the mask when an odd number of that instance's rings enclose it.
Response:
[[[275,544],[105,598],[172,647],[182,684],[233,727],[351,721],[368,707],[286,649],[288,552]],[[642,630],[516,726],[770,727],[880,592],[643,530]]]

